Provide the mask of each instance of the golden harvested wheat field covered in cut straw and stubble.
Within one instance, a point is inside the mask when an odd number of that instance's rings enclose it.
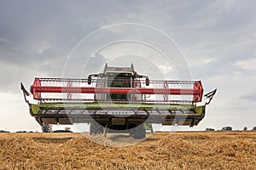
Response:
[[[0,169],[256,169],[256,132],[154,133],[137,142],[125,134],[1,133]],[[117,143],[124,146],[109,146]]]

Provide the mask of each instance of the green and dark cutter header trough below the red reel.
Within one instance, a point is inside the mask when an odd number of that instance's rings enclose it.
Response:
[[[44,124],[71,125],[73,123],[91,123],[95,121],[103,127],[109,124],[113,128],[115,128],[114,126],[119,126],[117,128],[122,129],[142,123],[177,124],[193,127],[201,122],[205,116],[205,105],[52,102],[31,105],[30,111],[32,116],[35,116],[38,123],[42,126]],[[150,130],[151,126],[145,126],[144,128]]]

